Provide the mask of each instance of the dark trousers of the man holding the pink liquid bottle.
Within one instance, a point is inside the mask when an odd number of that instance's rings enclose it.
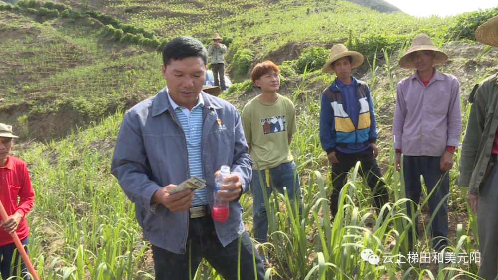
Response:
[[[253,250],[256,254],[253,254]],[[209,215],[190,219],[186,251],[185,254],[176,254],[152,245],[155,279],[191,280],[203,257],[226,280],[264,279],[263,263],[247,231],[223,247]]]

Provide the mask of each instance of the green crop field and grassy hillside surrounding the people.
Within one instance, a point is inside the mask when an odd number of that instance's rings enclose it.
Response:
[[[305,216],[300,219],[296,205],[284,195],[268,197],[270,239],[263,246],[273,268],[266,272],[267,279],[477,278],[479,263],[457,262],[458,257],[449,263],[374,266],[360,252],[371,249],[381,261],[383,256],[406,257],[408,228],[415,226],[404,209],[403,182],[392,168],[396,85],[412,73],[400,69],[397,60],[420,32],[429,34],[448,53],[450,61],[438,69],[460,80],[465,130],[467,97],[476,82],[498,71],[498,48],[465,36],[455,41],[458,36],[452,34],[475,29],[455,22],[476,16],[485,20],[495,10],[462,19],[380,13],[340,0],[59,4],[56,8],[32,0],[21,3],[22,7],[0,9],[0,122],[12,124],[14,133],[22,136],[14,155],[27,162],[35,189],[35,205],[27,216],[29,252],[41,279],[154,279],[150,244],[143,240],[134,205],[109,173],[110,158],[123,112],[166,84],[160,73],[160,44],[179,35],[192,35],[208,44],[214,32],[230,42],[228,73],[239,82],[223,98],[242,109],[257,94],[247,80],[251,67],[272,59],[282,70],[280,93],[296,105],[298,132],[291,150],[302,182]],[[124,23],[134,27],[120,25]],[[358,166],[342,192],[343,210],[330,221],[330,166],[320,146],[318,123],[319,94],[335,76],[322,74],[320,63],[338,42],[367,58],[353,75],[371,87],[380,140],[378,161],[390,193],[391,203],[383,208],[389,223],[379,222],[371,209],[372,194]],[[458,158],[459,154],[456,162]],[[469,256],[478,249],[476,216],[467,207],[466,190],[453,184],[457,172],[458,164],[450,171],[449,250]],[[428,195],[424,190],[419,212],[424,229],[431,218]],[[252,197],[244,194],[240,201],[250,232]],[[391,250],[393,240],[397,245]],[[430,235],[422,234],[416,253],[434,253],[429,244]],[[195,279],[222,278],[203,262]]]

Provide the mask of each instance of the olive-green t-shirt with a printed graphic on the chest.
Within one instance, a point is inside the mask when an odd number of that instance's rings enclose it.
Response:
[[[271,105],[262,104],[254,97],[242,110],[242,127],[246,141],[251,144],[254,170],[274,168],[293,160],[288,135],[297,130],[294,104],[278,93],[277,96]]]

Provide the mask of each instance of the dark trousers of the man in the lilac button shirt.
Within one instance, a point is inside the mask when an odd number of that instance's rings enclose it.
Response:
[[[428,157],[428,156],[404,156],[403,157],[403,172],[406,198],[415,202],[414,210],[417,211],[418,203],[420,202],[420,194],[422,193],[422,185],[420,183],[420,175],[423,176],[425,186],[427,187],[427,194],[434,188],[434,192],[428,197],[429,212],[434,219],[430,225],[432,238],[434,237],[448,237],[448,199],[446,198],[439,208],[434,213],[439,202],[450,192],[450,179],[447,172],[439,169],[439,162],[441,157]],[[412,216],[411,203],[408,203],[408,216]],[[415,232],[418,238],[418,216],[415,218]],[[408,231],[408,241],[413,243],[413,230]],[[443,238],[434,238],[432,247],[436,250],[442,249],[448,244]]]

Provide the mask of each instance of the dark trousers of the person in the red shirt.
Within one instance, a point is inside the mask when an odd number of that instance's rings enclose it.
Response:
[[[22,245],[28,245],[29,241],[28,238],[24,238],[21,240]],[[24,247],[26,249],[26,252],[28,251],[27,247]],[[1,277],[3,280],[6,280],[10,276],[18,276],[17,270],[20,266],[21,270],[21,276],[24,276],[24,280],[29,280],[29,276],[27,275],[27,268],[26,265],[24,264],[24,261],[21,259],[21,254],[19,254],[15,249],[17,247],[15,246],[14,243],[10,243],[4,246],[0,247],[0,273]],[[15,260],[14,260],[14,265],[12,266],[12,257],[14,257],[14,251],[15,253]],[[10,270],[12,269],[12,274],[10,274]]]

